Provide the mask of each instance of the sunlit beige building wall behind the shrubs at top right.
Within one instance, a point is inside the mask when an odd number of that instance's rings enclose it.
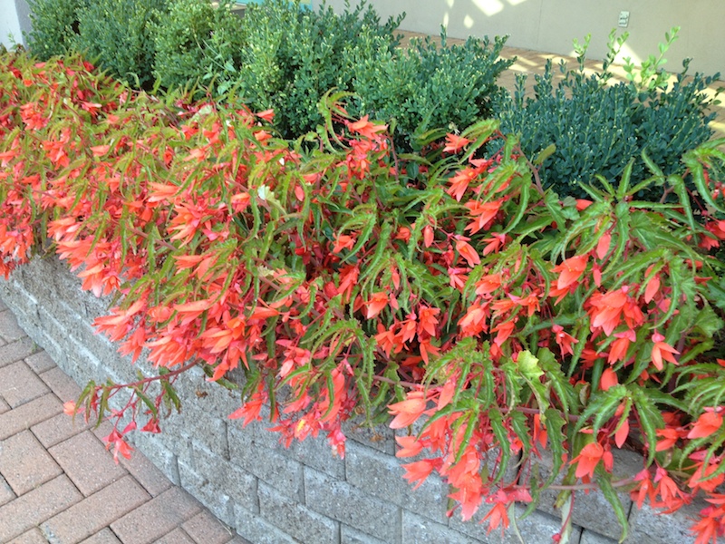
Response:
[[[343,9],[343,0],[328,0]],[[354,4],[354,2],[353,2]],[[692,57],[691,70],[725,74],[725,1],[723,0],[371,0],[384,18],[406,12],[401,28],[450,37],[509,34],[507,44],[547,53],[573,52],[572,40],[592,34],[588,57],[601,59],[619,12],[629,11],[627,54],[633,59],[658,53],[657,44],[672,26],[680,39],[667,54],[667,68],[678,72]]]

